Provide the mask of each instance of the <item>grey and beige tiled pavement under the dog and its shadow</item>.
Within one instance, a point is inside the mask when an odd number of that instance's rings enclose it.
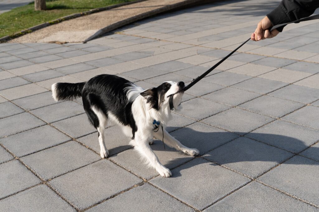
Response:
[[[165,13],[88,43],[0,44],[0,211],[319,211],[319,22],[249,41],[189,89],[155,140],[172,171],[147,168],[117,127],[101,159],[81,99],[50,86],[116,74],[144,88],[186,84],[249,38],[278,1]]]

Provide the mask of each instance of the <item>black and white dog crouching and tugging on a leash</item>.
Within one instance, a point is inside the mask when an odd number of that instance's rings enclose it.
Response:
[[[155,137],[163,140],[170,147],[174,147],[189,155],[197,155],[197,149],[182,145],[167,133],[164,128],[171,119],[169,96],[173,96],[173,106],[180,109],[184,94],[184,82],[164,82],[158,87],[144,90],[132,82],[115,75],[102,74],[81,83],[55,83],[52,85],[52,96],[58,100],[70,100],[82,96],[84,110],[99,132],[100,155],[108,157],[105,146],[104,130],[108,122],[119,125],[123,132],[132,138],[130,145],[145,159],[146,163],[155,168],[163,177],[170,177],[172,173],[164,167],[152,151],[149,144]],[[163,126],[154,132],[157,127]]]

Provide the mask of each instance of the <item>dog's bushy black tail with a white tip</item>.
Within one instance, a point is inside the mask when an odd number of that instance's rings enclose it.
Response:
[[[58,82],[51,86],[52,97],[54,100],[71,100],[82,96],[82,90],[85,82],[80,83],[62,83]]]

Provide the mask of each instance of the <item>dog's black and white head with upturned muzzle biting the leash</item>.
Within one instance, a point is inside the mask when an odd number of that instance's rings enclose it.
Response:
[[[158,87],[150,88],[141,92],[141,95],[146,99],[146,102],[151,108],[159,110],[160,108],[169,108],[169,97],[173,95],[173,106],[177,110],[182,101],[184,94],[184,82],[167,81]]]

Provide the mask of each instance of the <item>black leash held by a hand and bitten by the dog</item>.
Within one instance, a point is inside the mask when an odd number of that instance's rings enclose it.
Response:
[[[300,23],[302,21],[310,21],[310,20],[315,20],[315,19],[319,19],[319,14],[317,15],[313,15],[313,16],[309,16],[309,17],[305,17],[305,18],[300,18],[296,21],[292,21],[292,22],[289,22],[289,23],[284,23],[284,24],[278,24],[278,25],[275,25],[273,27],[271,27],[269,29],[269,31],[272,31],[272,30],[275,30],[277,29],[278,27],[281,27],[281,26],[285,26],[287,24],[292,24],[292,23]],[[247,39],[244,43],[242,43],[240,46],[238,46],[236,49],[234,49],[234,51],[230,52],[226,57],[222,58],[218,63],[216,63],[214,66],[212,66],[210,69],[208,69],[206,72],[204,72],[202,75],[198,76],[197,78],[193,79],[187,86],[184,87],[184,91],[187,91],[189,88],[191,88],[193,85],[195,85],[199,80],[203,79],[207,74],[209,74],[212,70],[214,70],[217,66],[219,66],[222,62],[224,62],[227,58],[229,58],[232,54],[234,54],[235,51],[237,51],[241,46],[243,46],[244,44],[246,44],[248,41],[250,40]],[[169,95],[169,107],[170,109],[172,110],[174,108],[174,105],[173,105],[173,96],[174,96],[175,93]]]

